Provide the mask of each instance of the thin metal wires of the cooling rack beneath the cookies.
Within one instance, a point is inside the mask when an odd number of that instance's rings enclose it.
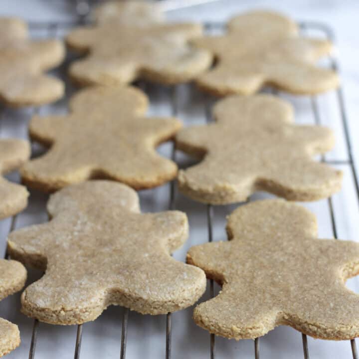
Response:
[[[80,1],[79,1],[80,2]],[[83,23],[85,21],[83,16],[79,16],[77,21],[73,22],[49,22],[49,23],[30,23],[29,27],[32,30],[46,30],[48,37],[56,37],[58,35],[58,31],[60,30],[70,30],[72,27]],[[205,23],[205,28],[207,31],[211,31],[213,29],[224,29],[225,25],[223,23]],[[303,30],[319,30],[321,31],[326,38],[330,39],[332,42],[334,42],[334,34],[330,27],[328,27],[325,24],[319,23],[319,22],[302,22],[300,23],[300,27]],[[330,57],[330,67],[336,71],[338,71],[338,63],[335,57]],[[140,84],[141,87],[141,84]],[[173,86],[171,89],[171,108],[172,108],[172,114],[175,116],[177,114],[177,86]],[[275,92],[275,90],[272,90],[272,92]],[[354,159],[353,159],[353,152],[352,152],[352,144],[351,139],[349,136],[349,128],[348,128],[348,120],[347,120],[347,111],[344,104],[344,98],[343,98],[343,90],[341,87],[339,87],[336,90],[336,97],[337,97],[337,106],[340,110],[340,118],[342,122],[342,127],[344,130],[344,137],[345,137],[345,143],[348,151],[348,160],[345,161],[327,161],[324,156],[322,156],[321,160],[328,164],[341,164],[341,165],[348,165],[351,168],[356,194],[357,194],[357,200],[359,200],[359,183],[358,183],[358,176],[354,165]],[[206,121],[207,123],[211,121],[210,116],[210,101],[207,101],[204,103],[205,106],[205,114],[206,114]],[[312,113],[315,119],[315,122],[317,124],[321,123],[321,115],[320,111],[318,109],[317,105],[317,99],[315,96],[311,97],[311,106],[312,106]],[[38,112],[39,109],[35,109],[35,112]],[[176,159],[176,148],[175,144],[173,144],[172,148],[172,159]],[[174,209],[175,207],[175,194],[176,194],[176,185],[175,181],[171,182],[170,185],[170,203],[169,203],[169,209]],[[248,199],[248,201],[250,198]],[[334,216],[334,209],[333,209],[333,203],[332,198],[328,198],[329,208],[330,208],[330,216],[331,216],[331,224],[333,228],[333,233],[335,238],[337,238],[337,224]],[[211,242],[213,240],[213,218],[214,218],[214,207],[210,204],[207,205],[207,234],[208,234],[208,241]],[[9,232],[15,229],[16,227],[16,216],[13,216],[11,218],[11,224]],[[5,254],[5,257],[7,257],[7,254]],[[210,295],[211,297],[214,296],[214,285],[213,281],[210,280]],[[171,337],[172,337],[172,317],[171,313],[168,313],[166,316],[166,359],[171,358]],[[127,327],[128,327],[128,321],[129,321],[129,310],[124,309],[123,311],[123,318],[122,318],[122,334],[121,334],[121,349],[120,349],[120,358],[125,359],[126,357],[126,345],[127,345]],[[31,337],[31,343],[29,348],[29,359],[33,359],[35,357],[35,351],[36,351],[36,341],[37,341],[37,331],[39,327],[39,322],[35,319],[33,322],[32,327],[32,337]],[[74,358],[78,359],[80,358],[80,350],[81,350],[81,340],[82,340],[82,325],[77,326],[77,334],[76,334],[76,342],[75,342],[75,350],[74,350]],[[307,336],[305,334],[302,334],[302,343],[303,343],[303,355],[305,359],[309,358],[309,349],[308,349],[308,343],[307,343]],[[352,339],[350,341],[351,349],[352,349],[352,355],[353,359],[358,359],[357,354],[357,347],[355,343],[355,339]],[[213,334],[210,334],[210,345],[209,345],[209,356],[211,359],[215,358],[215,336]],[[255,359],[259,359],[259,338],[256,338],[254,340],[254,357]]]

